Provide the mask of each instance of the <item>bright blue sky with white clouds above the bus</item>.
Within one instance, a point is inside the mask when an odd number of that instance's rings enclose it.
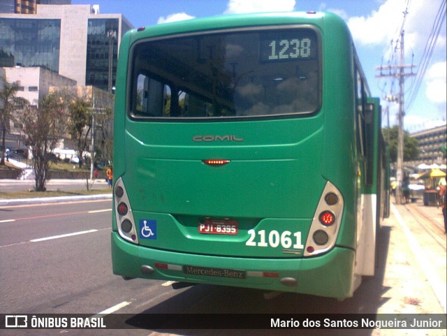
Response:
[[[399,104],[386,97],[399,94],[399,82],[378,78],[376,67],[400,64],[403,25],[404,64],[415,66],[415,75],[404,82],[404,129],[413,133],[446,124],[446,0],[72,0],[72,4],[99,4],[101,14],[122,13],[135,28],[238,13],[337,13],[351,30],[372,95],[382,98],[383,110],[389,110],[390,126],[397,124]],[[383,126],[387,126],[385,115]]]

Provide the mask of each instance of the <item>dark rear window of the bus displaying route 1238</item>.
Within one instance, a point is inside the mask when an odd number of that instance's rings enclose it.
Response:
[[[155,39],[132,50],[135,118],[307,114],[320,105],[313,29],[230,31]]]

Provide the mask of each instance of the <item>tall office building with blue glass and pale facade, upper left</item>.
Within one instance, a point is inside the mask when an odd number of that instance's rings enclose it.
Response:
[[[41,66],[110,91],[119,43],[131,28],[123,15],[99,14],[91,5],[37,4],[33,15],[0,13],[0,66]]]

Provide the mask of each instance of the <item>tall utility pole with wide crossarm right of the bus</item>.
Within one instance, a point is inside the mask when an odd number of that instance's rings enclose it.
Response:
[[[397,113],[397,167],[396,167],[396,203],[402,203],[402,181],[403,181],[403,166],[404,166],[404,81],[406,77],[413,76],[413,65],[404,64],[404,30],[400,34],[400,65],[399,66],[377,66],[376,70],[380,70],[380,75],[377,78],[397,78],[399,80],[399,96],[393,101],[398,101],[399,112]],[[410,68],[411,73],[406,73],[405,69]],[[384,74],[383,71],[388,71]]]

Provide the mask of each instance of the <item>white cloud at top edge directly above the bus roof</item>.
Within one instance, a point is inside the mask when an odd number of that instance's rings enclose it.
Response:
[[[295,0],[229,0],[225,14],[288,12]]]

